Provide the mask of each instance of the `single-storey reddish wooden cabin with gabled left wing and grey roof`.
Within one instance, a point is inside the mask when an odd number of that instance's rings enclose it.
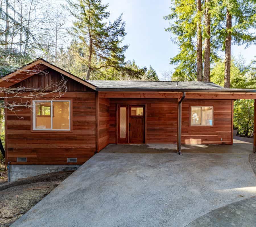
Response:
[[[2,77],[0,87],[43,89],[62,78],[67,89],[57,99],[50,89],[34,98],[5,93],[6,103],[32,105],[5,110],[11,180],[77,167],[108,144],[177,144],[179,153],[181,144],[232,144],[234,100],[256,99],[256,90],[212,82],[86,81],[42,58]],[[22,175],[24,168],[34,172]]]

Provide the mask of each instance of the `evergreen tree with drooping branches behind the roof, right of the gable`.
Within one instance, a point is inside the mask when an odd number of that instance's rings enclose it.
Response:
[[[125,66],[124,53],[128,45],[121,46],[126,35],[122,14],[113,23],[107,24],[104,21],[109,18],[110,12],[106,11],[108,4],[103,5],[102,0],[67,0],[67,3],[67,9],[77,19],[70,33],[82,42],[88,52],[81,57],[87,66],[86,79],[90,79],[93,70],[109,67],[138,78],[145,73],[145,68],[132,70]]]

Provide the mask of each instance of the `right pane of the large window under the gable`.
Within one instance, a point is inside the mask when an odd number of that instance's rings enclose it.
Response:
[[[69,130],[70,102],[52,102],[52,129]]]

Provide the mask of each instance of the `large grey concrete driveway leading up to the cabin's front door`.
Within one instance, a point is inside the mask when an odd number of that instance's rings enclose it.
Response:
[[[256,195],[246,152],[180,156],[138,147],[109,145],[12,226],[179,227]]]

